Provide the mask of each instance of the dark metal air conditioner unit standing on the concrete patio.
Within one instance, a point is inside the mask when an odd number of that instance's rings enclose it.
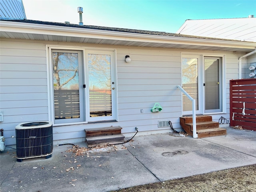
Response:
[[[52,122],[26,122],[15,127],[17,162],[22,159],[52,156]]]

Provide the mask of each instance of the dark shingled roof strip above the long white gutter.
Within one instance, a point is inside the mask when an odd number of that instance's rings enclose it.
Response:
[[[212,40],[227,40],[227,39],[221,39],[221,38],[191,36],[191,35],[167,33],[167,32],[135,30],[135,29],[125,29],[125,28],[114,28],[114,27],[102,27],[102,26],[92,26],[92,25],[65,24],[65,23],[48,22],[48,21],[37,21],[37,20],[8,20],[8,21],[11,21],[11,22],[22,22],[22,23],[32,23],[32,24],[42,24],[42,25],[52,25],[52,26],[64,26],[64,27],[73,27],[73,28],[84,28],[84,29],[95,29],[95,30],[126,32],[126,33],[149,34],[149,35],[158,35],[158,36],[172,36],[172,37],[212,39]],[[238,41],[238,40],[228,40],[228,41]]]

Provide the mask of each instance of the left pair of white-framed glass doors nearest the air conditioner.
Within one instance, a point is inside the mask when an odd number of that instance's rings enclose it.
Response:
[[[49,50],[54,124],[117,120],[114,51]]]

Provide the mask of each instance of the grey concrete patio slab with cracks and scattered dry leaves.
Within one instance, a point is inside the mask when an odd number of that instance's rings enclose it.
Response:
[[[226,136],[202,139],[174,133],[135,136],[116,147],[75,157],[66,152],[72,145],[54,146],[51,158],[23,162],[6,147],[0,154],[0,191],[108,192],[256,164],[256,132],[249,130],[227,128]]]

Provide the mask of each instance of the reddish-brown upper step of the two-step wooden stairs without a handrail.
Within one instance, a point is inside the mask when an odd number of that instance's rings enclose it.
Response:
[[[107,135],[118,135],[121,134],[122,127],[120,126],[110,126],[101,128],[90,128],[84,129],[86,133],[86,138],[95,136],[107,136]]]

